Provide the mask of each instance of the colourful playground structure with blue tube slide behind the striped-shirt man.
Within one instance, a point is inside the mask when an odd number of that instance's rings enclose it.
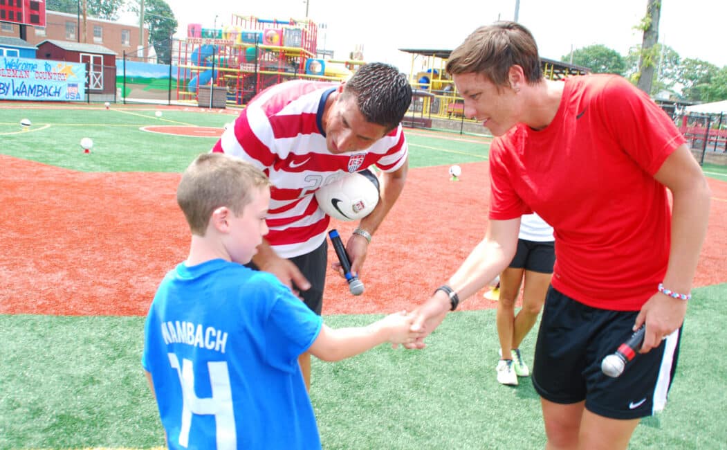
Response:
[[[213,29],[190,24],[187,35],[178,43],[177,100],[190,103],[198,100],[201,87],[209,87],[224,90],[226,103],[244,105],[273,84],[290,79],[342,81],[364,64],[318,58],[318,27],[308,19],[233,14],[230,25]]]

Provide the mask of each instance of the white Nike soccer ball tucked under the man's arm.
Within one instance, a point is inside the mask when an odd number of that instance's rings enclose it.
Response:
[[[371,170],[347,173],[316,191],[318,206],[340,221],[356,221],[379,203],[379,179]]]

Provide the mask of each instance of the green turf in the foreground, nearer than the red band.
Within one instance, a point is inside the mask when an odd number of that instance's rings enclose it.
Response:
[[[632,449],[726,449],[727,283],[694,290],[670,403]],[[339,328],[379,315],[327,316]],[[140,366],[142,317],[0,315],[0,448],[163,444]],[[326,449],[537,449],[530,379],[495,381],[494,310],[450,314],[422,351],[382,345],[340,363],[313,360],[311,399]],[[532,360],[535,331],[523,342]],[[607,439],[604,436],[604,439]]]

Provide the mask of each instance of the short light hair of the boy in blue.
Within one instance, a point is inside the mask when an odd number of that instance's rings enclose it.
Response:
[[[201,154],[182,173],[177,204],[192,234],[204,236],[212,212],[226,206],[240,215],[252,201],[254,189],[270,186],[262,170],[223,153]]]

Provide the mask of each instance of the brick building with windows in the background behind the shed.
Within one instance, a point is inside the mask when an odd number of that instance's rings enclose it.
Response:
[[[126,51],[128,60],[145,62],[156,62],[142,58],[135,58],[139,46],[139,24],[119,23],[113,20],[86,18],[86,32],[84,33],[84,18],[75,14],[65,12],[46,11],[45,28],[26,26],[25,36],[20,36],[20,25],[16,23],[0,22],[0,36],[24,37],[28,44],[37,46],[47,40],[76,42],[80,44],[101,45],[116,53],[121,58]],[[149,28],[144,25],[143,46],[144,55],[148,56],[149,51],[153,53],[153,47],[149,48]]]

